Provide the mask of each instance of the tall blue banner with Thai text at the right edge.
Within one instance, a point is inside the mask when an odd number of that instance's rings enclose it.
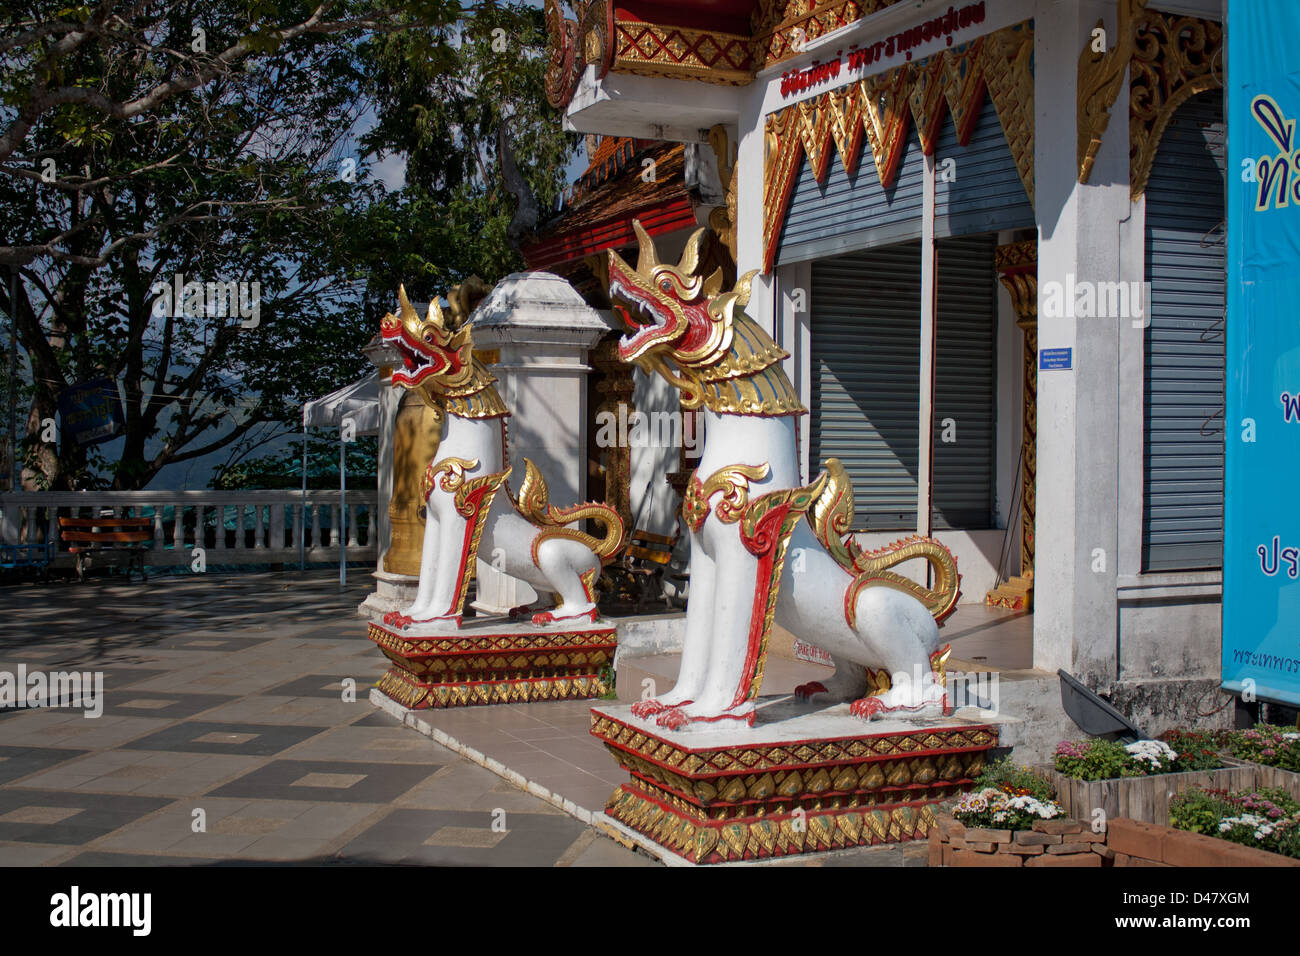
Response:
[[[1300,704],[1300,18],[1227,14],[1223,687]]]

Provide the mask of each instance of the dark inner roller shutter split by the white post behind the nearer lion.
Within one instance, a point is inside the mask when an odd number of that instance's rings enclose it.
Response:
[[[937,243],[935,527],[992,524],[993,241]],[[814,468],[844,462],[854,527],[915,529],[919,468],[920,243],[812,264]],[[941,441],[952,418],[957,441]]]

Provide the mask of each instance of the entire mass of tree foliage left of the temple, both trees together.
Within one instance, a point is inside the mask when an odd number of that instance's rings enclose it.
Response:
[[[365,367],[398,282],[428,298],[519,268],[497,130],[543,203],[572,148],[524,4],[35,0],[0,34],[0,264],[22,280],[0,306],[30,369],[29,488],[142,488],[294,431]],[[404,189],[367,173],[370,152],[408,159]],[[256,324],[161,310],[177,277],[256,284]],[[103,375],[125,397],[117,460],[44,444],[58,393]]]

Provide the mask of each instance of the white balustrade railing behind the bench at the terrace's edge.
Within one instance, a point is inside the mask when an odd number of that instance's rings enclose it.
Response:
[[[147,564],[190,564],[203,548],[208,564],[339,559],[341,493],[248,492],[14,492],[0,493],[0,542],[55,542],[58,518],[152,518]],[[376,492],[347,493],[347,559],[376,561]],[[306,536],[306,537],[304,537]]]

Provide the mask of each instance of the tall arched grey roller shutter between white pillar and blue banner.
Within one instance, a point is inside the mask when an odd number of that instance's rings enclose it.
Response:
[[[1225,126],[1221,91],[1174,113],[1147,186],[1143,567],[1223,555]]]

